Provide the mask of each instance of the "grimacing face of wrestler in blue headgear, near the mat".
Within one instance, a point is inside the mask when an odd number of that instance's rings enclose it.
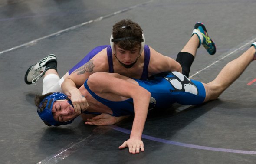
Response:
[[[53,103],[52,114],[53,118],[58,122],[66,122],[79,115],[69,104],[68,100],[56,100]]]

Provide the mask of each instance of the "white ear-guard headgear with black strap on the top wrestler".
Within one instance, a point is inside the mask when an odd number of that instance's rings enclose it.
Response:
[[[144,46],[145,46],[145,36],[143,34],[143,31],[142,31],[142,39],[138,39],[138,38],[135,38],[135,37],[125,37],[125,38],[114,39],[113,34],[111,34],[111,36],[110,36],[110,46],[111,46],[112,52],[114,54],[116,54],[116,52],[115,52],[115,42],[121,41],[121,40],[136,40],[136,41],[141,42],[141,48],[140,48],[139,54],[141,55],[141,53],[143,52],[143,49],[144,49]]]

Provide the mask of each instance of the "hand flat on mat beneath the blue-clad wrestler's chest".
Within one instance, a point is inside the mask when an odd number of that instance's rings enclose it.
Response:
[[[85,124],[88,125],[113,125],[129,116],[121,116],[121,117],[114,117],[107,113],[102,113],[100,115],[97,115],[93,118],[88,118]]]

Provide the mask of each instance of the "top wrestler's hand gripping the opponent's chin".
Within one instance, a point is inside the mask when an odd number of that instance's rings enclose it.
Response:
[[[71,101],[76,113],[81,114],[88,106],[86,98],[79,92],[71,95]]]

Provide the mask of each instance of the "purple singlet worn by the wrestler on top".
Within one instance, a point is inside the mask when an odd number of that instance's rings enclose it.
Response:
[[[92,49],[79,63],[77,63],[72,69],[69,70],[69,75],[74,72],[76,69],[80,68],[83,66],[85,63],[87,63],[89,60],[91,60],[98,52],[101,52],[102,49],[107,48],[107,55],[108,55],[108,66],[109,66],[109,73],[114,73],[114,68],[113,68],[113,58],[112,58],[112,49],[111,46],[108,45],[103,45],[103,46],[98,46]],[[144,67],[143,67],[143,72],[141,75],[141,80],[146,80],[148,79],[148,64],[149,64],[149,59],[150,59],[150,49],[148,45],[144,46]]]

